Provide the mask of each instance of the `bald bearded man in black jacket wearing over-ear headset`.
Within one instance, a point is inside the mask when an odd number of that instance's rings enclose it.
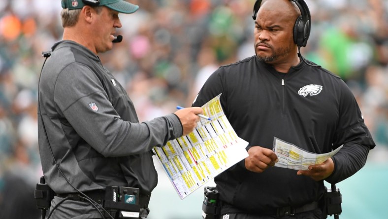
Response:
[[[249,156],[215,178],[221,219],[322,219],[323,180],[355,174],[375,144],[344,81],[298,55],[310,33],[306,3],[259,0],[253,17],[256,56],[220,67],[193,103],[222,93],[226,117],[250,143]],[[274,137],[318,154],[343,147],[296,171],[273,167]]]

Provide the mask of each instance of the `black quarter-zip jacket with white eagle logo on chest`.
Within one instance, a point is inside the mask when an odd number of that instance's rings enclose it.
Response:
[[[307,61],[308,62],[308,61]],[[313,153],[333,156],[335,170],[325,179],[338,183],[355,174],[375,144],[356,99],[338,76],[301,62],[282,77],[256,56],[220,67],[205,82],[193,106],[218,94],[237,135],[251,146],[272,149],[274,137]],[[215,178],[229,212],[260,213],[317,201],[323,181],[297,176],[296,170],[270,167],[263,173],[245,169],[244,161]],[[227,213],[227,212],[224,212]]]

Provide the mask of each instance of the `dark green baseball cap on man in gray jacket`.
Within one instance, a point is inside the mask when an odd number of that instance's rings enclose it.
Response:
[[[62,0],[62,7],[68,8],[69,10],[80,9],[85,6],[85,3],[83,1],[90,2],[91,5],[103,5],[112,10],[126,14],[133,13],[137,11],[137,9],[139,9],[139,6],[131,4],[125,0]]]

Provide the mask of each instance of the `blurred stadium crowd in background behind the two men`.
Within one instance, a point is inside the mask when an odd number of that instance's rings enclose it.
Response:
[[[140,121],[173,112],[176,105],[191,106],[220,65],[254,55],[255,0],[130,2],[140,9],[120,15],[123,41],[99,56],[127,88]],[[368,162],[385,161],[388,0],[307,3],[312,32],[301,53],[351,87],[377,144]],[[6,209],[13,214],[28,212],[26,206],[35,209],[31,197],[42,175],[37,144],[41,53],[62,38],[61,9],[60,0],[0,1],[0,218]],[[16,199],[24,200],[24,207],[15,205]],[[33,218],[29,214],[25,218]]]

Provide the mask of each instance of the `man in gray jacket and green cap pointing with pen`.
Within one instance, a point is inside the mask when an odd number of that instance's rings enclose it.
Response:
[[[122,27],[118,14],[138,6],[62,0],[62,7],[63,40],[45,55],[39,79],[39,152],[45,180],[56,193],[50,217],[118,218],[96,204],[102,206],[107,186],[139,188],[135,217],[146,217],[158,181],[152,148],[192,132],[202,110],[187,108],[139,123],[126,90],[97,56],[112,49],[115,30]]]

